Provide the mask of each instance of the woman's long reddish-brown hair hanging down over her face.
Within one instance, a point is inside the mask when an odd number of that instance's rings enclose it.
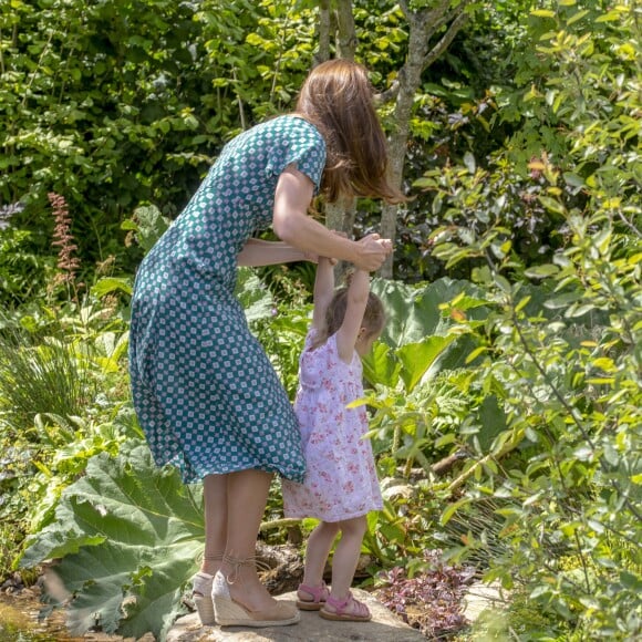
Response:
[[[315,66],[301,87],[296,114],[315,125],[325,139],[321,190],[331,203],[340,196],[405,200],[387,180],[386,139],[372,95],[365,69],[341,59]]]

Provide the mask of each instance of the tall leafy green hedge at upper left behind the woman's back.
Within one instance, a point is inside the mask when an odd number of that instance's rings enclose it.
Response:
[[[134,269],[121,221],[141,203],[175,216],[229,138],[289,108],[312,60],[299,4],[2,4],[0,204],[25,206],[0,246],[3,303],[44,283],[50,191],[70,205],[85,272],[110,256]]]

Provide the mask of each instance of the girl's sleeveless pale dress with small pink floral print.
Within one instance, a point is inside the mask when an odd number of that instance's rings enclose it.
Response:
[[[282,480],[287,517],[340,521],[383,507],[364,406],[346,408],[363,396],[362,365],[339,358],[333,334],[312,350],[312,328],[299,363],[294,412],[303,442],[307,473],[303,484]]]

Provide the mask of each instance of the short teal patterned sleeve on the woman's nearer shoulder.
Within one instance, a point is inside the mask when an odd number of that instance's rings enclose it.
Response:
[[[325,142],[308,121],[297,116],[279,118],[281,135],[269,152],[267,172],[279,176],[288,165],[296,165],[314,184],[314,194],[321,187],[321,177],[325,167]]]

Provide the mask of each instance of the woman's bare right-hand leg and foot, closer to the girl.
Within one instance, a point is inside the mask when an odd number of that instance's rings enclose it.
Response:
[[[247,560],[255,557],[271,478],[271,474],[262,470],[227,475],[227,546],[221,571],[232,580],[229,583],[232,599],[251,611],[273,607],[275,599],[261,584],[253,565],[235,565],[229,558]]]

